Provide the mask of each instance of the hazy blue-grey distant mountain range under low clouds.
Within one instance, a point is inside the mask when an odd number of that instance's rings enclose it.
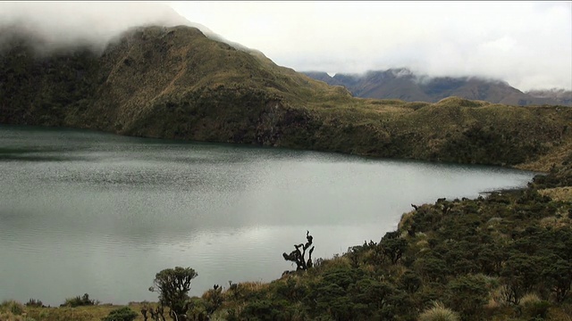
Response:
[[[332,86],[345,86],[356,97],[400,99],[406,102],[436,103],[443,98],[465,99],[509,105],[572,106],[572,91],[563,89],[521,92],[507,82],[475,77],[420,77],[407,69],[368,71],[364,75],[336,74],[322,71],[303,72],[310,78]]]

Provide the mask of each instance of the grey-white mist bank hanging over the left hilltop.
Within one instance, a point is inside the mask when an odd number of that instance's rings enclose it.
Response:
[[[181,24],[192,25],[168,5],[156,3],[0,3],[0,37],[6,31],[25,32],[45,51],[75,45],[101,50],[132,27]]]

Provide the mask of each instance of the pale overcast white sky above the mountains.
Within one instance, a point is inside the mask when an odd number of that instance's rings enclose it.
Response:
[[[103,46],[142,24],[188,24],[298,71],[478,76],[572,89],[572,2],[0,2],[48,44]],[[2,42],[0,33],[0,45]]]

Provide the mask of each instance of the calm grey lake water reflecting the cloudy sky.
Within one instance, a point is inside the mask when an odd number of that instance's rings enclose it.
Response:
[[[524,186],[532,173],[341,154],[0,126],[0,300],[156,300],[156,272],[195,268],[191,294],[270,281],[282,252],[331,258],[393,230],[411,203]]]

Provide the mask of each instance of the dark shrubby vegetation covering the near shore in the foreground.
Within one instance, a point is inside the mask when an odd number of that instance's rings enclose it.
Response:
[[[198,274],[178,267],[157,273],[151,290],[158,303],[125,309],[78,297],[90,306],[71,308],[77,300],[68,299],[66,307],[42,308],[37,300],[7,301],[0,319],[570,320],[570,186],[572,152],[526,189],[414,206],[379,242],[315,259],[271,283],[215,285],[190,298]],[[309,233],[307,241],[284,259],[301,267],[297,251],[319,246]]]

